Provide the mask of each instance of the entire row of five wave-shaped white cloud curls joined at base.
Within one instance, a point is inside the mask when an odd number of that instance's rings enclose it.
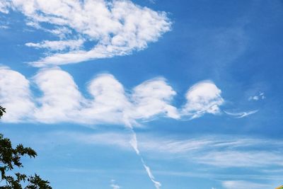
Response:
[[[31,81],[41,91],[30,92],[30,81],[7,67],[1,67],[1,105],[7,108],[8,122],[76,122],[88,125],[137,125],[156,116],[180,119],[218,114],[224,102],[212,81],[203,81],[187,92],[187,103],[178,109],[171,103],[176,92],[161,77],[144,81],[127,90],[111,74],[99,74],[88,82],[86,98],[73,77],[59,68],[40,69]]]

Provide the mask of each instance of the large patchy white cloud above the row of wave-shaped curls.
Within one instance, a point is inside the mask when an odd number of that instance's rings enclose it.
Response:
[[[83,38],[94,43],[91,50],[69,48],[67,52],[54,52],[32,62],[35,67],[129,55],[133,50],[144,50],[149,42],[155,42],[171,29],[166,13],[128,0],[11,0],[10,8],[21,11],[35,28],[48,30],[61,40]],[[44,28],[41,23],[49,23],[51,29]],[[28,44],[50,50],[46,41]]]

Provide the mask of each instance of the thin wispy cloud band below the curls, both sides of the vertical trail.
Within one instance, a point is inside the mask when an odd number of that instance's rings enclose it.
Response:
[[[58,133],[59,136],[69,136],[78,142],[88,144],[113,145],[120,149],[130,150],[132,134],[128,132],[105,132],[97,134]],[[111,138],[111,140],[109,140]],[[277,151],[270,151],[270,148]],[[174,139],[139,134],[139,149],[152,157],[172,157],[216,166],[218,168],[249,167],[265,168],[276,166],[282,169],[282,142],[274,139],[250,137],[229,137],[215,135],[210,137],[195,137],[194,139]],[[138,152],[139,153],[139,152]]]

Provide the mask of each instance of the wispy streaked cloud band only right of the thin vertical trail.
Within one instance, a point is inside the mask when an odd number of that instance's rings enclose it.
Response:
[[[152,154],[174,154],[197,164],[228,167],[282,167],[282,142],[248,137],[199,137],[195,139],[157,139],[141,135],[142,151]],[[278,149],[270,151],[270,147]],[[170,155],[171,154],[171,155]]]

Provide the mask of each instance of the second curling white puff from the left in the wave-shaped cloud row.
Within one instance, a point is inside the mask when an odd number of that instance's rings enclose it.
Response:
[[[83,97],[70,74],[57,68],[43,69],[33,80],[42,91],[42,97],[37,98],[40,107],[35,110],[36,121],[76,122],[79,119]]]

